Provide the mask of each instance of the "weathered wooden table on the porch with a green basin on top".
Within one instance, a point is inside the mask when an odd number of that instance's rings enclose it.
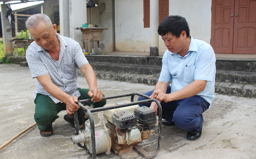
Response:
[[[102,32],[104,29],[107,28],[89,28],[89,27],[81,27],[81,28],[76,28],[77,30],[81,30],[83,37],[83,45],[85,49],[85,42],[91,42],[92,44],[92,53],[94,53],[94,46],[93,42],[97,41],[98,42],[98,48],[100,48],[100,40],[102,40]]]

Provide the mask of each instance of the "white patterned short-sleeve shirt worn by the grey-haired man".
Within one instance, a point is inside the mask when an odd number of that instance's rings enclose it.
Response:
[[[60,36],[56,33],[60,41],[59,60],[55,61],[36,42],[31,43],[26,51],[26,59],[32,78],[49,74],[56,86],[69,95],[79,97],[81,94],[77,90],[76,65],[81,66],[89,63],[85,58],[82,48],[75,40]],[[55,103],[61,102],[44,90],[44,87],[36,79],[36,93],[48,95]]]

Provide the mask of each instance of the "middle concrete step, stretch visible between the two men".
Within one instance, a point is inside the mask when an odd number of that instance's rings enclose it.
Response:
[[[152,65],[138,65],[138,64],[120,64],[120,63],[106,63],[106,62],[90,62],[94,70],[111,71],[117,73],[132,73],[143,75],[160,74],[161,66]]]

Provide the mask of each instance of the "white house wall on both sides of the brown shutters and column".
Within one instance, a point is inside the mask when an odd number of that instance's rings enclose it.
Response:
[[[193,38],[210,43],[211,0],[169,0],[169,15],[180,15],[189,23]],[[143,1],[115,0],[116,51],[146,51],[150,30],[144,28]],[[159,53],[166,47],[159,36]]]

